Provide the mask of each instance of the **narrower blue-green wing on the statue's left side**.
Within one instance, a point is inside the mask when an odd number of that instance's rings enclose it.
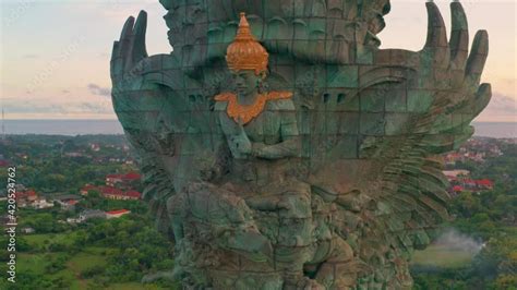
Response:
[[[214,126],[212,93],[181,69],[175,55],[147,57],[146,14],[130,17],[111,58],[112,104],[136,153],[144,198],[166,225],[166,202],[192,180],[217,173],[223,135]],[[185,92],[189,92],[188,94]]]

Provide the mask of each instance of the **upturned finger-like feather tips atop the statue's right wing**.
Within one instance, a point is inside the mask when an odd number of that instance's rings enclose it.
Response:
[[[430,88],[445,92],[443,95],[453,104],[471,102],[476,109],[470,114],[477,114],[491,97],[490,84],[480,85],[489,52],[488,33],[477,32],[469,52],[467,16],[461,4],[450,4],[453,27],[448,40],[436,4],[428,2],[426,8],[428,39],[420,51],[419,77],[414,88],[423,92],[421,95]]]

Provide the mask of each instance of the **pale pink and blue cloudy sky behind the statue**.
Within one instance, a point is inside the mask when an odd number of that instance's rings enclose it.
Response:
[[[381,48],[420,50],[424,0],[392,0]],[[450,1],[435,1],[450,29]],[[476,119],[517,122],[517,0],[464,0],[470,41],[486,29],[490,52],[482,82],[489,107]],[[116,119],[109,58],[129,15],[148,13],[147,51],[167,53],[165,9],[158,0],[0,0],[0,105],[5,119]]]

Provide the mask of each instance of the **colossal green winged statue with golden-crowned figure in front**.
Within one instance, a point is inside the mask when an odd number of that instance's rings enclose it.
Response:
[[[160,0],[111,59],[112,101],[175,240],[187,289],[408,289],[411,254],[448,219],[438,156],[488,105],[486,32],[470,53],[426,3],[420,51],[380,49],[388,0]],[[245,12],[245,13],[244,13]],[[404,32],[402,32],[404,34]]]

